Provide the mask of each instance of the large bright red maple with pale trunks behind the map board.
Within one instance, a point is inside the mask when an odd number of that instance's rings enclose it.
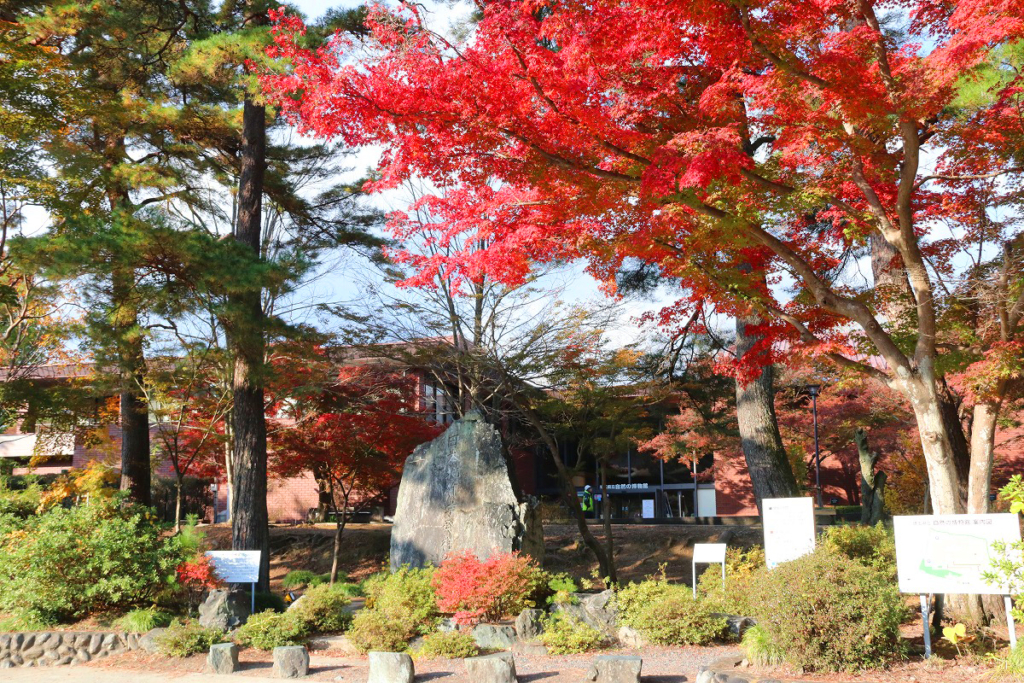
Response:
[[[984,438],[970,451],[945,374],[991,364],[996,349],[1022,355],[1020,232],[985,204],[1017,199],[1021,88],[996,79],[972,105],[958,93],[1024,34],[1024,2],[478,10],[456,41],[415,5],[378,6],[361,61],[341,37],[301,48],[300,22],[274,15],[271,53],[290,68],[263,84],[286,115],[307,133],[382,145],[375,188],[413,176],[443,186],[420,200],[443,217],[439,239],[483,246],[421,263],[414,284],[437,271],[515,282],[537,261],[584,258],[613,289],[624,263],[647,263],[682,286],[676,313],[763,315],[766,352],[744,359],[813,355],[898,391],[934,510],[987,509],[986,425],[1019,387],[1020,364],[985,382],[974,409]],[[412,225],[392,217],[399,237]],[[974,263],[955,257],[968,252]],[[868,253],[874,283],[858,285],[853,266]],[[998,321],[983,335],[950,334],[966,280]]]

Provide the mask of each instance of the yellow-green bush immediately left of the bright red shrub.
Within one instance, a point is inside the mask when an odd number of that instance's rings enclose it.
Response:
[[[379,573],[364,584],[366,606],[352,620],[348,637],[364,652],[400,652],[410,640],[437,627],[434,569],[402,567]]]

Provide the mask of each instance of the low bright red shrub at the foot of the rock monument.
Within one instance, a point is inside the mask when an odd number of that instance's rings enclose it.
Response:
[[[434,573],[437,605],[457,624],[498,621],[531,606],[530,598],[545,584],[534,558],[496,553],[485,560],[471,552],[453,553]]]

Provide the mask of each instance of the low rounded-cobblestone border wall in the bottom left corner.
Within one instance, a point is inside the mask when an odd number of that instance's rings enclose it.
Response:
[[[115,631],[0,633],[0,669],[83,664],[137,649],[141,637]]]

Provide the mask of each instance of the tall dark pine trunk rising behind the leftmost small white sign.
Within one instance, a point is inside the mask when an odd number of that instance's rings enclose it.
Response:
[[[234,238],[260,255],[266,114],[246,99],[243,111],[239,221]],[[266,509],[266,416],[263,410],[263,313],[259,289],[231,297],[234,314],[232,392],[234,489],[231,548],[262,552],[259,590],[269,588],[270,549]]]

